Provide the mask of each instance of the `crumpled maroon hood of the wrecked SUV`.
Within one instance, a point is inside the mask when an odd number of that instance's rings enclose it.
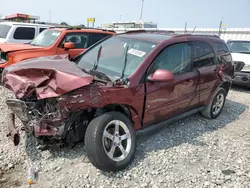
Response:
[[[41,57],[8,66],[3,71],[2,83],[17,98],[29,96],[35,90],[38,99],[58,97],[89,85],[93,76],[65,57]]]

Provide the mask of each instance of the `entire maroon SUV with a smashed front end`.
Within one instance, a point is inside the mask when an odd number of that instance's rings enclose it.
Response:
[[[16,96],[7,105],[42,145],[85,140],[89,160],[103,171],[129,165],[136,131],[198,112],[217,118],[234,74],[216,36],[127,32],[96,43],[76,62],[54,59],[6,67],[4,86]],[[18,138],[13,124],[8,130]]]

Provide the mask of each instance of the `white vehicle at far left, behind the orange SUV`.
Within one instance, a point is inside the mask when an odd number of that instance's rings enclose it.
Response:
[[[0,43],[28,43],[52,25],[0,22]]]

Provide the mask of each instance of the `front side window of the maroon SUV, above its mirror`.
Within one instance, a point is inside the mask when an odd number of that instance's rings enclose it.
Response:
[[[188,43],[175,44],[165,49],[155,60],[149,74],[157,69],[166,69],[173,74],[191,70],[191,46]]]

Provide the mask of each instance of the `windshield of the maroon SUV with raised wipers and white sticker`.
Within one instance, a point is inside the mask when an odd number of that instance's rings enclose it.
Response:
[[[124,77],[128,77],[155,46],[156,43],[152,42],[113,36],[86,52],[77,64],[86,70],[95,65],[97,71],[120,78],[126,62]]]

